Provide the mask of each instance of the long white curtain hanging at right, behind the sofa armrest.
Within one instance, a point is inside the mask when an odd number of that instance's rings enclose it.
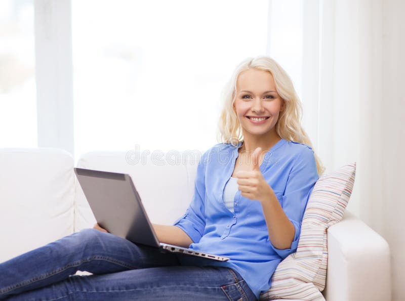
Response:
[[[270,18],[288,20],[278,1]],[[392,299],[405,300],[405,3],[304,0],[300,9],[304,128],[326,173],[357,163],[348,210],[389,243]]]

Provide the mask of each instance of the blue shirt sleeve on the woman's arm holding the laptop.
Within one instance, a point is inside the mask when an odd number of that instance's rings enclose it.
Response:
[[[201,156],[198,162],[197,175],[194,180],[194,196],[186,213],[174,222],[173,226],[182,229],[194,243],[197,243],[204,235],[205,222],[205,172],[207,164],[207,152]]]

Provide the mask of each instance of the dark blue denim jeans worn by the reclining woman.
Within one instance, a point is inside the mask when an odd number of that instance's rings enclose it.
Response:
[[[85,229],[0,264],[0,299],[256,300],[236,271],[181,256]]]

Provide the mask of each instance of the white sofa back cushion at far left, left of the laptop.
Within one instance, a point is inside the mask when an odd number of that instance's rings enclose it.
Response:
[[[0,149],[0,263],[73,232],[73,164],[61,149]]]

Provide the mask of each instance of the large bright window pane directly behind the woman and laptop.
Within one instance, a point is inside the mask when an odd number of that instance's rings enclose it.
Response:
[[[75,157],[207,149],[220,94],[265,55],[268,1],[72,1]]]

